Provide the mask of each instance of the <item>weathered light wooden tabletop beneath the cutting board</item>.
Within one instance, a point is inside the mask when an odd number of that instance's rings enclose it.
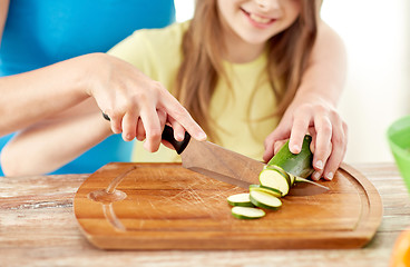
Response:
[[[352,165],[373,182],[383,220],[362,249],[106,251],[79,230],[72,199],[87,175],[0,177],[0,266],[388,266],[410,226],[410,198],[393,164]]]

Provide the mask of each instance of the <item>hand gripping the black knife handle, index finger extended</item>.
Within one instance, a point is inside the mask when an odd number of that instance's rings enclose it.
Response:
[[[115,57],[98,53],[94,57],[97,63],[94,62],[87,93],[110,118],[113,132],[123,132],[126,141],[146,139],[145,149],[154,152],[162,141],[165,118],[177,140],[184,138],[185,130],[197,140],[206,139],[188,111],[159,82]]]

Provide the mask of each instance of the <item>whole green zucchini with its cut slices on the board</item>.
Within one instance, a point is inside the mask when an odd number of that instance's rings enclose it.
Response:
[[[305,136],[301,152],[296,155],[289,150],[287,141],[261,171],[261,185],[251,185],[248,194],[236,194],[227,198],[227,202],[234,206],[232,215],[238,219],[258,219],[266,215],[262,209],[281,208],[280,198],[289,194],[295,178],[308,178],[313,172],[311,141],[312,137]]]

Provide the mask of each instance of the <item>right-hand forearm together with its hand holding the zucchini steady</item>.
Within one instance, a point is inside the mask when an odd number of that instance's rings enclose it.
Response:
[[[276,129],[265,139],[264,160],[272,158],[279,145],[290,139],[297,154],[306,132],[314,145],[314,179],[332,179],[346,148],[346,125],[336,112],[344,87],[346,55],[340,37],[323,21],[319,24],[308,67],[296,95]]]

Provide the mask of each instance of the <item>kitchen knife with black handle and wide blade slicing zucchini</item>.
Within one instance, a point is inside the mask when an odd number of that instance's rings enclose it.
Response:
[[[265,166],[261,161],[209,141],[197,141],[188,132],[185,132],[183,141],[177,141],[169,126],[165,126],[162,138],[173,145],[186,169],[246,189],[250,185],[260,184],[258,175]],[[296,181],[290,196],[312,196],[329,190],[328,187],[300,177]]]

